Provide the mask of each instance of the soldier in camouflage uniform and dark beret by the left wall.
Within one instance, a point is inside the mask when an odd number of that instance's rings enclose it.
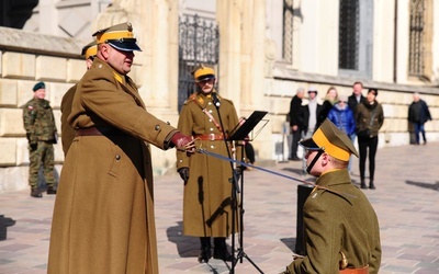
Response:
[[[23,124],[29,141],[29,185],[31,196],[41,198],[38,191],[38,171],[44,168],[47,194],[56,194],[54,175],[54,144],[57,142],[57,132],[54,113],[46,96],[46,85],[38,82],[33,88],[34,98],[23,107]]]

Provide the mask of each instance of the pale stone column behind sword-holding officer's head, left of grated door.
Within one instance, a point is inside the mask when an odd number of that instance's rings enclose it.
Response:
[[[114,0],[95,30],[128,21],[143,52],[135,52],[130,76],[149,111],[177,113],[178,0]]]

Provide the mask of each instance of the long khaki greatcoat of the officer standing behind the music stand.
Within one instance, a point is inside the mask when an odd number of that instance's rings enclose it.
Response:
[[[232,101],[219,95],[218,100],[224,132],[230,134],[238,125],[235,106]],[[211,95],[199,93],[196,96],[193,94],[181,109],[178,129],[190,136],[221,134],[214,122],[203,113],[203,109],[221,123]],[[195,145],[196,148],[227,157],[224,140],[196,140]],[[240,155],[240,150],[237,155]],[[183,196],[183,233],[228,237],[232,233],[232,184],[228,181],[232,178],[230,163],[202,153],[188,157],[185,152],[177,152],[177,169],[183,167],[189,168],[189,181],[184,185]],[[206,221],[211,222],[211,227]]]

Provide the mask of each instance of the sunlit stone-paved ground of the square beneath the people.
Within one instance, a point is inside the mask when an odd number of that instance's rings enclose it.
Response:
[[[365,193],[380,220],[380,273],[439,273],[438,151],[439,142],[378,151],[376,190]],[[353,167],[352,180],[358,184],[357,160]],[[313,180],[301,176],[301,162],[268,169]],[[238,262],[235,273],[259,273],[256,266],[263,273],[279,273],[295,249],[297,183],[260,170],[246,171],[244,181],[243,241],[249,260]],[[230,264],[219,260],[198,263],[199,240],[181,235],[179,176],[159,176],[155,184],[160,273],[229,273]],[[8,228],[7,240],[0,241],[0,273],[46,273],[54,201],[47,195],[31,198],[29,191],[0,193],[0,214],[16,220]]]

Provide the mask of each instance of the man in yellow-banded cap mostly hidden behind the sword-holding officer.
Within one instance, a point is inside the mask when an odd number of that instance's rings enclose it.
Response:
[[[90,69],[91,64],[93,64],[93,59],[95,58],[98,53],[98,45],[95,41],[87,44],[81,52],[81,55],[86,57],[86,66],[87,69]],[[61,100],[61,144],[64,157],[67,156],[67,151],[75,139],[76,130],[67,123],[67,117],[71,112],[71,103],[74,102],[74,96],[76,92],[76,88],[78,84],[72,85],[66,94],[64,94]]]

